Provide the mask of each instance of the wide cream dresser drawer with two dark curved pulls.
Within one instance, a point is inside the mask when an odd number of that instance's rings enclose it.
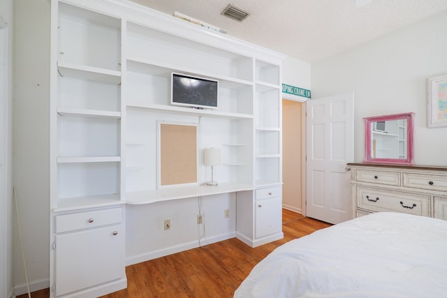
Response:
[[[430,216],[430,195],[358,188],[358,207],[372,211],[398,211]]]

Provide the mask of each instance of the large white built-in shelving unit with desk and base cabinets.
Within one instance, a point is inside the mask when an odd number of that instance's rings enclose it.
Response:
[[[284,56],[128,1],[51,3],[51,297],[126,286],[130,205],[138,222],[139,205],[233,193],[233,237],[281,238]],[[218,108],[171,105],[173,72],[218,80]],[[161,122],[198,127],[196,185],[159,187]],[[202,186],[208,147],[217,187]]]

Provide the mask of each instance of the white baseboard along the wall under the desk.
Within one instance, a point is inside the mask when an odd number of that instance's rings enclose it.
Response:
[[[202,240],[201,245],[206,246],[207,244],[212,244],[215,242],[228,240],[236,237],[235,232],[229,232],[226,234],[220,234],[214,237],[207,237],[206,241]],[[182,251],[187,251],[192,248],[198,248],[198,240],[186,242],[184,244],[179,244],[175,246],[170,246],[167,248],[159,249],[158,251],[149,251],[147,253],[141,253],[140,255],[132,255],[126,257],[126,266],[138,264],[140,262],[146,262],[149,260],[154,260],[156,258],[164,257],[165,255],[172,255],[173,253],[179,253]]]

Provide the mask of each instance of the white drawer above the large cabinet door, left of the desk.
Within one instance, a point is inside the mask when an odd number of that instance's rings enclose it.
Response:
[[[111,225],[113,223],[121,222],[121,208],[57,215],[56,232],[70,232],[73,230],[95,228],[101,225]]]

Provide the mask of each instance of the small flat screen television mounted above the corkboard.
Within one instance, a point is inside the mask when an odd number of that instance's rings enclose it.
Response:
[[[172,73],[171,104],[217,109],[217,80]]]

